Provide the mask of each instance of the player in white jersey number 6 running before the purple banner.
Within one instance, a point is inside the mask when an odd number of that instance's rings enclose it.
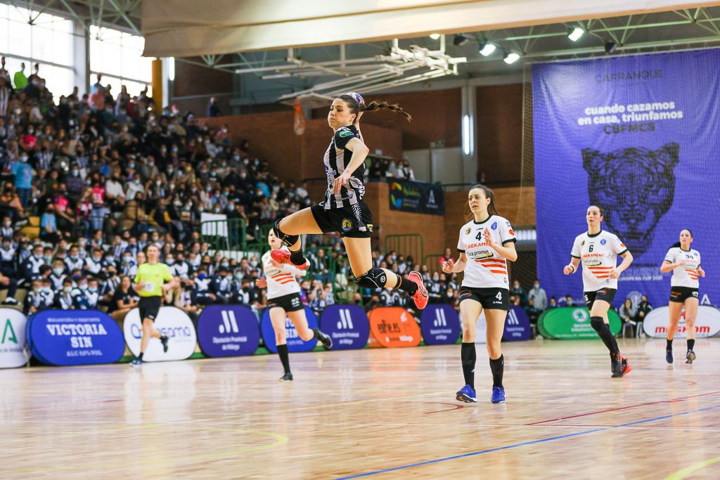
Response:
[[[618,277],[632,263],[632,254],[617,235],[603,230],[601,223],[603,209],[590,205],[585,219],[588,231],[575,237],[572,257],[563,273],[570,275],[577,271],[582,261],[582,286],[585,303],[590,310],[590,325],[598,332],[605,346],[610,350],[610,369],[613,377],[621,377],[631,371],[627,359],[621,356],[618,342],[610,331],[608,309],[618,291]],[[618,255],[623,258],[618,265]]]

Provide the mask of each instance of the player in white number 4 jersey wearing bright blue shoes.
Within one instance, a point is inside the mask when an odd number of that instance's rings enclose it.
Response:
[[[495,195],[486,186],[472,187],[468,204],[474,218],[460,229],[457,243],[460,258],[456,262],[450,259],[443,263],[445,273],[465,272],[459,293],[462,318],[460,358],[465,386],[457,391],[455,398],[461,402],[477,402],[474,386],[475,325],[482,309],[485,309],[487,353],[490,354],[492,372],[490,402],[505,403],[505,359],[500,350],[500,340],[503,338],[510,297],[507,261],[518,259],[515,232],[510,222],[498,215]]]

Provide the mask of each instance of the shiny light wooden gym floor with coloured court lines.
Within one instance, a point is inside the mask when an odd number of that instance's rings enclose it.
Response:
[[[505,343],[508,403],[456,402],[460,347],[0,371],[0,479],[718,479],[720,340]]]

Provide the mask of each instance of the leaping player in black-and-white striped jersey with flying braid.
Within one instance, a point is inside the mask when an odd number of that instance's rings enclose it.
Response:
[[[325,200],[275,222],[275,236],[289,247],[289,251],[273,250],[271,255],[278,263],[292,263],[305,269],[308,263],[302,256],[300,235],[340,232],[358,286],[400,289],[421,310],[428,304],[428,291],[423,286],[420,273],[411,271],[404,278],[393,271],[372,266],[372,212],[363,201],[364,161],[370,149],[362,139],[359,120],[364,112],[379,109],[400,112],[410,121],[410,114],[403,112],[397,105],[373,101],[366,106],[363,98],[354,92],[333,100],[328,112],[328,124],[334,134],[324,158],[325,174],[328,177]]]

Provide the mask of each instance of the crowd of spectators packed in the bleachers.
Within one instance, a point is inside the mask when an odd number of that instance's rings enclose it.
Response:
[[[76,89],[55,104],[37,68],[27,85],[14,87],[0,71],[5,304],[15,303],[20,288],[27,290],[28,313],[102,307],[122,317],[137,304],[131,279],[152,243],[181,278],[166,302],[191,313],[213,303],[264,307],[264,291],[255,286],[262,252],[244,258],[213,252],[201,239],[202,213],[243,219],[246,240],[261,244],[261,226],[310,205],[306,185],[279,181],[266,160],[250,154],[248,140],[233,145],[226,126],[211,129],[192,113],[159,112],[147,91],[112,96],[98,77],[89,94]],[[398,176],[411,178],[408,169],[405,162]],[[339,239],[307,241],[313,265],[302,288],[311,308],[320,312],[342,292],[348,302],[407,303],[391,291],[348,289],[354,282]],[[318,248],[320,241],[330,248]],[[401,272],[421,269],[433,284],[428,268],[412,258],[376,251],[374,261]],[[435,274],[433,301],[456,303],[456,283],[442,277]]]

